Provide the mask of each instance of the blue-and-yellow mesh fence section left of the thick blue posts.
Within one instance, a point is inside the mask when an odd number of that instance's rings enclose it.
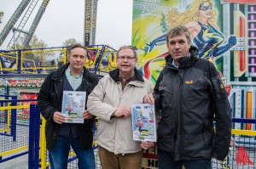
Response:
[[[4,99],[16,100],[17,97],[4,96]],[[28,153],[29,119],[24,114],[19,116],[18,111],[29,109],[29,105],[17,105],[17,102],[3,101],[0,105],[0,160],[3,162]],[[20,140],[26,140],[26,142]]]

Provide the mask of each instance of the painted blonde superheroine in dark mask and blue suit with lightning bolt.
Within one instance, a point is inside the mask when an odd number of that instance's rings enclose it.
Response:
[[[170,28],[175,25],[185,25],[189,29],[200,58],[217,57],[236,45],[234,36],[229,37],[228,42],[222,45],[224,35],[218,31],[216,24],[218,11],[213,6],[212,0],[195,0],[184,13],[172,8],[166,16]],[[166,35],[154,39],[147,44],[150,47],[149,51],[157,45],[157,42],[165,40]]]

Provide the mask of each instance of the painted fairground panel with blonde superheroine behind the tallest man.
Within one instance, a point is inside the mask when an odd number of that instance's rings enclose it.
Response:
[[[255,119],[256,0],[134,0],[132,45],[138,49],[139,70],[153,85],[166,64],[166,32],[175,25],[186,26],[199,57],[216,65],[229,93],[233,117]],[[256,130],[255,124],[233,123],[233,127]],[[250,147],[248,140],[255,144],[255,137],[242,141],[234,137],[236,148]],[[229,155],[226,163],[235,158],[240,157]],[[157,166],[150,159],[145,163],[144,168]],[[254,166],[250,161],[246,164]]]

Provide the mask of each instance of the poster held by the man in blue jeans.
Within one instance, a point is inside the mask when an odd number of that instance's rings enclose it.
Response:
[[[67,123],[84,123],[86,92],[64,91],[62,99],[62,114]]]

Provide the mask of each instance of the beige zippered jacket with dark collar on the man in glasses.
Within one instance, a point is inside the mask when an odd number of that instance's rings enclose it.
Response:
[[[117,154],[131,154],[141,151],[140,142],[132,137],[131,115],[114,117],[113,112],[120,106],[131,108],[131,104],[143,104],[143,97],[153,93],[150,82],[135,69],[133,78],[122,90],[119,69],[104,76],[90,93],[87,108],[92,115],[99,117],[97,143],[104,149]]]

